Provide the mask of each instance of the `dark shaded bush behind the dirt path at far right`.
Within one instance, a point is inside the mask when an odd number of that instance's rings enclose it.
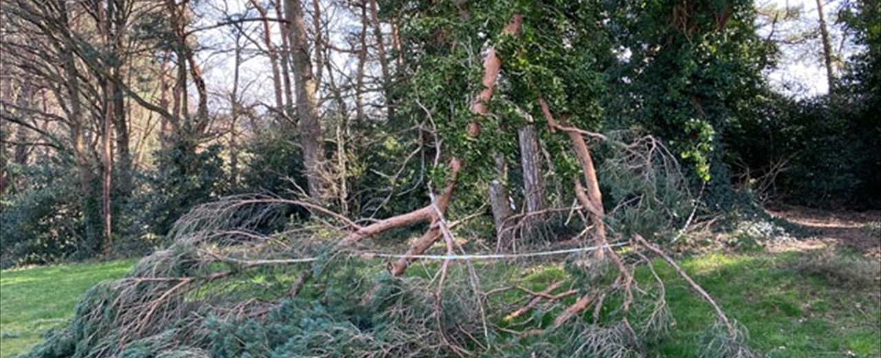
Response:
[[[759,198],[812,207],[881,205],[875,113],[839,96],[766,93],[729,124],[726,161]]]

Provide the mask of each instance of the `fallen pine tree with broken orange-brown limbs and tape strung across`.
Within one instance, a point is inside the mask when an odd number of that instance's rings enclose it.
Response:
[[[502,36],[515,37],[523,22],[514,15]],[[486,53],[472,116],[460,129],[475,141],[486,135],[480,121],[492,115],[502,70],[496,49]],[[649,241],[663,235],[647,240],[636,228],[649,216],[676,216],[665,205],[687,203],[676,160],[651,137],[581,129],[555,114],[540,86],[531,92],[547,131],[566,137],[566,151],[555,154],[577,162],[575,175],[559,178],[571,183],[577,203],[559,208],[577,217],[566,219],[578,222],[574,248],[466,252],[447,214],[470,162],[439,152],[436,158],[448,156],[447,175],[439,192],[429,184],[430,203],[368,224],[308,200],[234,197],[197,207],[175,225],[170,248],[144,258],[129,277],[93,288],[70,326],[31,356],[641,356],[673,322],[648,255],[672,265],[714,308],[719,324],[708,329],[704,356],[757,356],[737,323]],[[611,153],[604,168],[591,141]],[[608,211],[601,170],[626,179],[614,183],[620,198]],[[309,210],[310,225],[260,232],[286,205]],[[428,227],[403,253],[366,249],[369,239],[418,223]],[[664,227],[671,228],[655,229]],[[441,239],[443,254],[426,253]],[[555,256],[565,258],[548,259]],[[416,262],[422,270],[408,272]],[[640,266],[653,273],[649,280],[637,280]],[[530,270],[558,272],[561,280]]]

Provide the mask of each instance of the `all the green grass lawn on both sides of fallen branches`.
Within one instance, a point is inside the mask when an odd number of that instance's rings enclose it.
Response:
[[[881,357],[881,282],[837,288],[797,271],[806,251],[709,254],[685,258],[692,275],[729,318],[750,333],[750,345],[769,357]],[[88,287],[122,277],[133,261],[4,271],[0,274],[2,354],[33,346],[41,334],[65,324]],[[696,357],[701,333],[713,322],[709,306],[662,260],[655,269],[667,282],[677,324],[648,356]],[[559,265],[544,272],[566,275]],[[537,272],[542,274],[543,272]],[[637,276],[648,278],[643,268]]]

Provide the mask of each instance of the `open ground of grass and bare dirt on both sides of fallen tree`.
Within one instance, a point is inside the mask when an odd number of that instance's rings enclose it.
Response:
[[[787,220],[796,239],[765,250],[685,257],[681,265],[746,328],[751,347],[769,357],[881,357],[881,212],[783,207],[769,213]],[[833,256],[822,258],[821,252]],[[0,358],[26,351],[43,332],[63,326],[88,287],[122,277],[133,264],[0,272]],[[668,282],[677,324],[668,339],[649,347],[649,355],[698,356],[697,342],[712,312],[669,266],[660,260],[654,265]]]

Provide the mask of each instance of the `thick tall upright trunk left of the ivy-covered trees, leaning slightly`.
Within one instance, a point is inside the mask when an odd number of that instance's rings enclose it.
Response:
[[[285,0],[287,32],[291,43],[293,79],[297,99],[297,117],[300,129],[300,146],[306,167],[308,194],[316,201],[322,201],[325,187],[324,139],[318,113],[316,98],[318,83],[312,72],[309,58],[309,43],[306,23],[300,0]]]

